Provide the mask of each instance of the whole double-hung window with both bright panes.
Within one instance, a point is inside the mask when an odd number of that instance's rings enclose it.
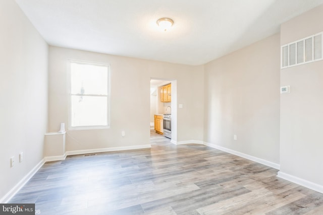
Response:
[[[109,64],[68,60],[69,128],[109,127]]]

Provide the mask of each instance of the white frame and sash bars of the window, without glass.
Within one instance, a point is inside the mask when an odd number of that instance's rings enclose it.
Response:
[[[106,123],[107,125],[89,125],[89,126],[73,126],[72,127],[72,102],[71,98],[72,95],[78,95],[78,94],[71,94],[71,63],[79,63],[79,64],[91,64],[91,65],[100,65],[100,66],[106,66],[107,67],[107,92],[105,95],[92,95],[92,96],[100,96],[100,97],[106,97]],[[84,61],[84,60],[75,60],[75,59],[68,59],[67,60],[67,71],[68,71],[68,77],[67,77],[67,84],[68,84],[68,128],[69,130],[89,130],[89,129],[106,129],[110,128],[110,64],[108,63],[102,63],[102,62],[93,62],[93,61]],[[83,95],[84,96],[84,95]],[[91,96],[91,95],[86,95]]]

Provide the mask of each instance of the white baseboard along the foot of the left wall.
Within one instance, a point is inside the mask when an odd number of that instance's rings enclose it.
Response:
[[[45,160],[42,159],[30,172],[25,175],[4,197],[0,199],[1,203],[7,203],[16,193],[35,175],[35,173],[44,165]]]

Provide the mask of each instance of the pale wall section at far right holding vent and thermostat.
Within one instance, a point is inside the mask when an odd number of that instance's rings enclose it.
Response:
[[[281,44],[323,31],[323,5],[281,26]],[[323,192],[323,60],[281,70],[280,175]],[[287,174],[287,175],[286,175]]]

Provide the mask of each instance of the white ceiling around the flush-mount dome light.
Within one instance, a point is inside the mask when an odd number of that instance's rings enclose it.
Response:
[[[323,0],[16,0],[49,45],[199,65],[280,31]],[[174,26],[162,31],[157,19]]]

